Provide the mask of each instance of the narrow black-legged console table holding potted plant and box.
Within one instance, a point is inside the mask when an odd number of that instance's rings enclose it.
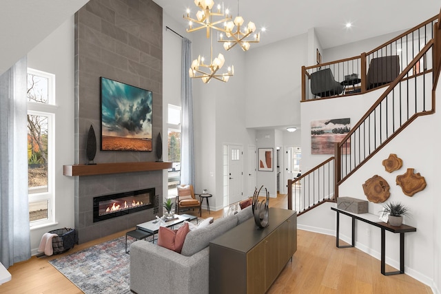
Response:
[[[400,227],[393,227],[386,222],[379,222],[378,216],[371,213],[356,214],[335,207],[331,207],[331,209],[337,212],[336,246],[338,248],[355,246],[355,223],[356,220],[361,220],[362,222],[366,222],[381,229],[381,273],[383,275],[396,275],[398,273],[404,273],[404,233],[415,232],[416,228],[407,226],[406,224],[402,224]],[[352,218],[351,245],[340,245],[340,213]],[[400,271],[389,271],[386,273],[386,262],[384,261],[386,259],[386,231],[400,233]]]

